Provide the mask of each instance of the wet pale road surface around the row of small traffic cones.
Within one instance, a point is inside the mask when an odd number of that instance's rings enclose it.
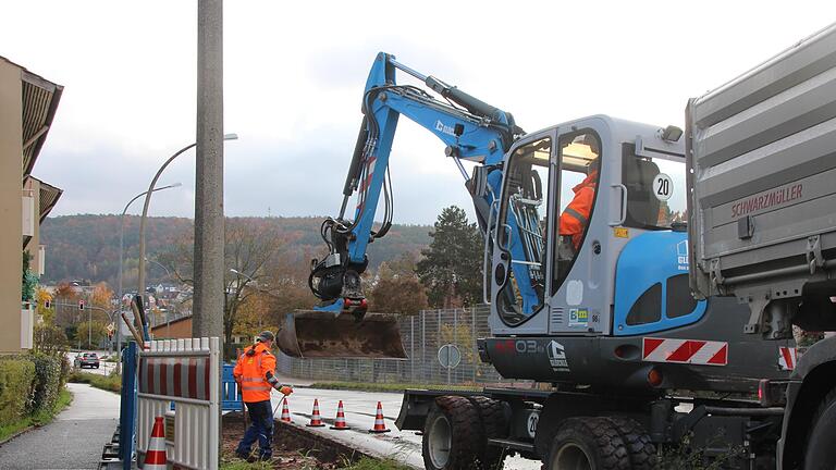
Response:
[[[279,419],[282,413],[280,397],[281,395],[273,391],[275,419]],[[394,421],[401,410],[403,394],[328,391],[297,386],[287,399],[291,418],[295,424],[304,426],[309,422],[314,398],[319,399],[319,410],[327,426],[306,429],[372,455],[394,458],[414,468],[423,468],[421,436],[416,435],[414,431],[402,432],[395,428]],[[330,429],[336,418],[340,400],[343,400],[345,421],[352,428],[347,431]],[[392,431],[384,434],[370,434],[368,430],[374,424],[378,401],[383,406],[383,421]],[[524,459],[519,456],[508,456],[505,459],[505,469],[539,470],[540,467],[540,461]]]

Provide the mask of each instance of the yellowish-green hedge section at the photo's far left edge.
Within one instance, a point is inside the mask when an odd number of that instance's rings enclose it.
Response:
[[[32,361],[0,359],[0,428],[19,422],[28,413],[34,381]]]

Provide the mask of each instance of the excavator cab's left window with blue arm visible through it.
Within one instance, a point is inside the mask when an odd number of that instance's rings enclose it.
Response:
[[[549,137],[524,145],[511,156],[505,173],[499,246],[509,257],[511,269],[499,293],[499,310],[509,325],[530,318],[544,304],[551,151]]]

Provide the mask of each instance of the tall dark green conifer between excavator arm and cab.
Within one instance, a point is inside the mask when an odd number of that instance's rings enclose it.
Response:
[[[435,308],[468,307],[482,298],[483,239],[456,206],[442,210],[432,242],[421,250],[417,273],[427,287],[429,304]]]

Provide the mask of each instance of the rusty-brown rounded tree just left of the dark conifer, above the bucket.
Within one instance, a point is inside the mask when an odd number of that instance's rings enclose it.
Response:
[[[381,263],[369,293],[370,308],[382,313],[415,314],[428,307],[427,288],[416,274],[413,253]]]

